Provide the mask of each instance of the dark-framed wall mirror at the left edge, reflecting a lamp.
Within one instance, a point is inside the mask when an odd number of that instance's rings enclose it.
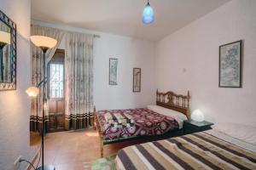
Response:
[[[16,89],[16,25],[0,10],[0,90]]]

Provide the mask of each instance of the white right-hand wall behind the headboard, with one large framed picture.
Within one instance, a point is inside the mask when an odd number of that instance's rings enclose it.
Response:
[[[218,46],[244,41],[243,87],[218,88]],[[157,87],[191,92],[213,122],[256,122],[256,1],[233,0],[157,43]]]

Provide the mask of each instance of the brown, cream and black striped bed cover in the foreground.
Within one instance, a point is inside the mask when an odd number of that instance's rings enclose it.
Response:
[[[119,150],[117,169],[256,169],[256,153],[207,133],[137,144]]]

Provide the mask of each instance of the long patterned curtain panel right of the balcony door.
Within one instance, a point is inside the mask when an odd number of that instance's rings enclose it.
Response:
[[[65,128],[93,125],[93,35],[69,33],[65,55]]]

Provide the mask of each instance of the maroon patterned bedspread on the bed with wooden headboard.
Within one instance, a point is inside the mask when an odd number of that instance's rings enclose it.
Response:
[[[129,114],[134,120],[131,127],[113,127],[106,122],[104,115],[108,112]],[[98,111],[98,121],[102,130],[104,141],[115,139],[127,139],[137,136],[150,136],[164,134],[179,129],[177,120],[172,116],[166,116],[155,111],[143,109]]]

